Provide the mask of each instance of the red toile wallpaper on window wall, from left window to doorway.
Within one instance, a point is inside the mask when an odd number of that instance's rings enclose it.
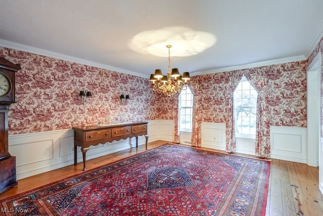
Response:
[[[307,62],[302,61],[193,77],[191,82],[200,85],[194,92],[201,95],[201,121],[226,123],[229,98],[225,91],[230,76],[252,70],[255,74],[265,71],[268,75],[270,125],[306,127],[306,67]]]

